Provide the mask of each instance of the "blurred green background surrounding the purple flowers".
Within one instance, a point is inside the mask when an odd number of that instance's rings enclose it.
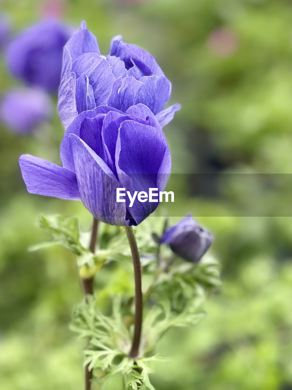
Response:
[[[114,35],[150,51],[172,82],[171,103],[181,104],[165,128],[172,172],[222,174],[211,190],[187,175],[171,179],[181,197],[172,222],[191,212],[213,232],[224,284],[197,328],[172,330],[158,344],[169,358],[153,367],[155,388],[292,389],[291,218],[282,208],[291,196],[290,2],[6,0],[1,12],[11,37],[48,16],[74,28],[84,19],[104,54]],[[2,94],[21,85],[5,48],[0,68]],[[74,256],[28,247],[47,239],[35,224],[41,213],[77,215],[84,230],[91,218],[80,202],[26,193],[18,167],[24,153],[60,162],[63,128],[51,99],[53,119],[29,135],[0,128],[0,390],[83,388],[83,345],[68,329],[82,299]],[[286,184],[268,191],[259,173]],[[246,204],[264,208],[234,212]],[[107,277],[101,272],[97,285]]]

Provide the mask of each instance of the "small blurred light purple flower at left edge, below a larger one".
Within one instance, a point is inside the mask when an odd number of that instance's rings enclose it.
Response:
[[[50,97],[40,89],[22,88],[7,92],[0,104],[0,117],[12,130],[28,133],[50,118]]]

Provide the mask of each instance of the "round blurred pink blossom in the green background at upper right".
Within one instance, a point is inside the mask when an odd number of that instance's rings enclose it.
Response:
[[[234,31],[229,28],[216,28],[209,35],[208,46],[214,54],[228,57],[237,49],[238,39]]]

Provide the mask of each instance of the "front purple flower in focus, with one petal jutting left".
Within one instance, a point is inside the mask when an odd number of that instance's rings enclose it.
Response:
[[[171,171],[164,133],[149,108],[139,104],[126,113],[107,106],[78,115],[61,145],[63,167],[25,154],[19,163],[28,192],[82,200],[99,220],[137,225],[158,203],[116,201],[116,188],[163,191]]]

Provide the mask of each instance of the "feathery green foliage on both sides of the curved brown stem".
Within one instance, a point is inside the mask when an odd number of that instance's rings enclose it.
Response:
[[[144,230],[144,236],[146,232]],[[157,259],[155,264],[158,264]],[[221,284],[218,263],[214,259],[170,266],[167,270],[156,266],[155,271],[153,265],[150,274],[154,275],[154,280],[144,294],[143,332],[137,359],[128,357],[135,313],[132,297],[111,296],[111,316],[100,312],[92,296],[87,296],[74,310],[71,329],[87,340],[84,366],[95,370],[95,380],[103,386],[121,373],[127,390],[154,390],[148,363],[159,360],[154,354],[157,342],[172,327],[196,326],[205,315],[202,311],[205,289]],[[148,272],[147,266],[145,272]],[[109,293],[108,286],[106,291]]]

